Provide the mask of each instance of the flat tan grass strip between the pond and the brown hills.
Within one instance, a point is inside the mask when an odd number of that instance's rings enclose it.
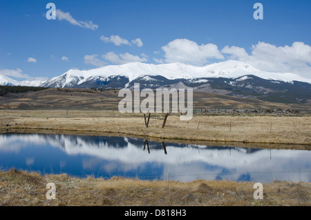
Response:
[[[153,117],[164,118],[161,114]],[[196,115],[189,121],[181,121],[179,116],[169,116],[162,129],[162,120],[153,118],[146,128],[142,113],[1,110],[0,129],[2,132],[84,132],[167,140],[294,144],[308,148],[311,145],[310,119],[310,116]]]

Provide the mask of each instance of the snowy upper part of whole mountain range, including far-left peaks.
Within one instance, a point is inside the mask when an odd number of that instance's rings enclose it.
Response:
[[[21,85],[21,86],[46,86],[46,87],[100,87],[108,84],[111,80],[123,80],[125,87],[129,86],[130,82],[144,77],[144,79],[153,81],[151,77],[161,76],[167,80],[196,80],[202,78],[228,78],[243,80],[246,75],[255,75],[265,80],[276,80],[283,82],[308,82],[311,84],[311,79],[301,77],[294,73],[272,73],[261,71],[249,64],[229,60],[210,64],[207,66],[191,66],[187,64],[172,63],[172,64],[145,64],[133,62],[122,65],[103,66],[87,71],[70,69],[66,73],[53,77],[47,81],[17,81],[10,77],[0,75],[1,85]],[[124,84],[124,83],[121,83]],[[96,86],[97,85],[97,86]],[[90,87],[91,88],[91,87]]]

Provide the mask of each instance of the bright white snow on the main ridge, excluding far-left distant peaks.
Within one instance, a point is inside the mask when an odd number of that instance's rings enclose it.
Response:
[[[256,75],[265,80],[281,80],[284,82],[292,82],[296,80],[311,83],[310,79],[305,79],[293,73],[270,73],[261,71],[244,62],[228,60],[225,62],[209,64],[207,66],[191,66],[178,62],[170,64],[145,64],[142,62],[132,62],[122,65],[103,66],[88,71],[70,69],[63,75],[48,80],[44,86],[54,84],[56,86],[65,87],[72,84],[82,84],[88,80],[117,75],[128,77],[129,82],[144,75],[161,75],[169,80],[180,78],[189,80],[203,77],[236,78],[244,75]]]

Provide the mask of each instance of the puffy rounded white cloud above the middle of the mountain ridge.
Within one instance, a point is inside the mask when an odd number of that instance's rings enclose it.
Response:
[[[224,59],[215,44],[198,45],[189,39],[175,39],[162,46],[165,62],[181,62],[192,65],[204,65],[209,59]]]

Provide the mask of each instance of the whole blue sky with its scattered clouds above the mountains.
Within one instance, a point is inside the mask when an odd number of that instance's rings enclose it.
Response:
[[[262,3],[256,20],[254,3]],[[55,3],[56,19],[46,19]],[[0,0],[0,74],[51,78],[70,68],[236,59],[311,78],[311,1]]]

